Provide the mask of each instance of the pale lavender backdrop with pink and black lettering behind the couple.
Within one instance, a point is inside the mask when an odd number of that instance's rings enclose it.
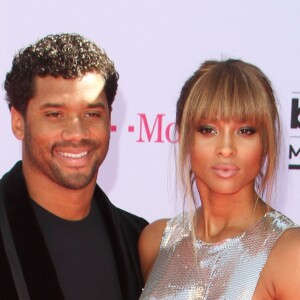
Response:
[[[295,0],[4,0],[0,8],[0,177],[21,158],[3,82],[14,54],[37,39],[79,33],[120,73],[109,154],[98,183],[149,221],[182,209],[175,175],[175,105],[206,59],[260,67],[280,102],[283,150],[273,206],[300,223],[300,2]]]

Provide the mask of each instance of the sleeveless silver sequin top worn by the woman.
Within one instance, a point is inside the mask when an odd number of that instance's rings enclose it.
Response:
[[[189,218],[181,214],[166,225],[140,300],[250,300],[276,240],[296,226],[272,211],[240,236],[204,243],[193,241]]]

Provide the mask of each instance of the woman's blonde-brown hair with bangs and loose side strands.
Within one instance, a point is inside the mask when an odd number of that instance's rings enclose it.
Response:
[[[269,79],[256,66],[241,60],[206,61],[185,82],[177,102],[179,174],[185,196],[193,193],[194,176],[189,162],[193,132],[203,120],[253,121],[261,134],[263,154],[255,188],[270,203],[280,153],[280,120]]]

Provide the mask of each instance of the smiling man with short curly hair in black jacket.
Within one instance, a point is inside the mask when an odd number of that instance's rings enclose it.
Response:
[[[105,52],[76,34],[49,35],[20,51],[6,76],[22,161],[0,183],[30,299],[141,292],[137,239],[147,222],[114,207],[96,184],[117,81]],[[18,299],[5,249],[2,238],[0,299]]]

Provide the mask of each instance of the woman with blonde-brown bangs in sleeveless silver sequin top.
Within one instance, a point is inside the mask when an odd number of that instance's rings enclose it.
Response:
[[[195,209],[143,231],[140,299],[299,299],[300,229],[269,205],[280,144],[269,80],[240,60],[206,61],[176,124]]]

